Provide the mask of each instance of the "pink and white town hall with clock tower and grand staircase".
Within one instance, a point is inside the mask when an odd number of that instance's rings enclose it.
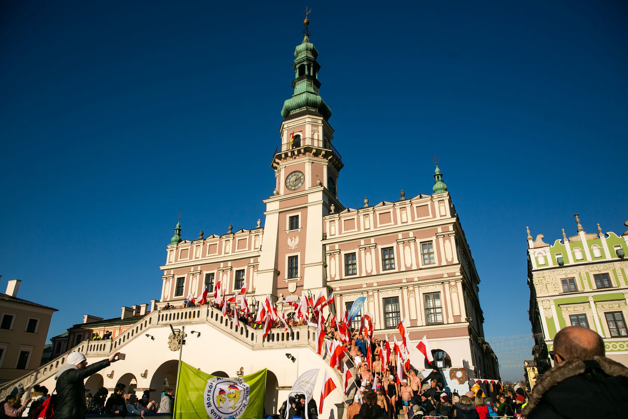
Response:
[[[273,329],[264,338],[262,330],[234,324],[207,305],[163,310],[166,303],[181,307],[190,294],[200,297],[205,287],[213,294],[218,281],[227,296],[246,288],[249,306],[270,296],[284,312],[293,310],[284,304],[290,297],[296,301],[301,295],[317,297],[322,292],[333,293],[330,310],[340,317],[357,298],[365,297],[356,327],[360,315],[369,312],[374,315],[376,339],[386,335],[392,339],[396,332],[399,339],[396,327],[406,319],[411,341],[416,345],[427,337],[448,382],[466,386],[468,378],[499,379],[497,357],[484,339],[479,274],[443,173],[436,166],[433,180],[425,179],[423,188],[431,188],[431,193],[406,197],[402,190],[389,202],[365,199],[355,209],[340,202],[338,175],[344,164],[337,149],[351,139],[334,138],[332,111],[319,92],[318,50],[307,27],[303,32],[294,53],[294,93],[281,109],[278,145],[270,161],[273,172],[266,173],[274,174],[276,183],[273,195],[263,201],[266,211],[257,227],[233,231],[229,226],[224,234],[201,232],[192,238],[181,235],[179,222],[160,266],[160,300],[151,302],[150,310],[138,305],[137,310],[129,309],[131,313],[122,308],[124,327],[113,325],[115,319],[77,325],[82,338],[23,378],[24,385],[43,381],[53,388],[51,377],[64,356],[80,350],[89,362],[111,352],[126,353],[125,361],[88,379],[86,388],[92,392],[97,386],[114,388],[124,381],[137,391],[151,389],[156,398],[165,383],[176,385],[180,355],[215,375],[251,374],[268,367],[267,413],[278,410],[297,376],[307,369],[321,370],[315,393],[323,370],[341,388],[327,354],[314,350],[313,327]],[[112,339],[89,340],[85,331],[102,332],[101,322],[109,322]],[[185,346],[172,351],[168,339],[173,329],[184,327]],[[208,356],[210,347],[229,356]],[[427,364],[415,367],[425,369]],[[342,402],[338,392],[325,401],[326,406]],[[322,417],[342,418],[342,411],[330,413],[326,408]]]

